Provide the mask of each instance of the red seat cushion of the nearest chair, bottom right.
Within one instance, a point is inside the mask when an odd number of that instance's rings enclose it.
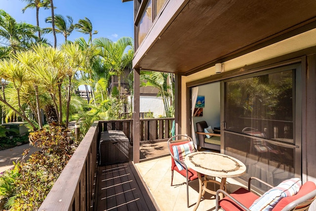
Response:
[[[237,199],[237,201],[239,201],[247,208],[249,208],[252,205],[252,203],[259,198],[259,196],[252,192],[249,192],[245,188],[239,188],[237,191],[230,195]],[[225,211],[244,211],[228,197],[225,197],[222,200],[220,200],[219,205]]]

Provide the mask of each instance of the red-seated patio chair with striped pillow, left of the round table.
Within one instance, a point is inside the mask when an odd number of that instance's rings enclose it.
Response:
[[[196,151],[193,140],[186,135],[174,135],[167,141],[167,146],[171,155],[171,186],[174,171],[186,177],[187,207],[189,208],[189,181],[196,180],[198,176],[197,171],[187,167],[184,163],[184,158],[186,155]]]

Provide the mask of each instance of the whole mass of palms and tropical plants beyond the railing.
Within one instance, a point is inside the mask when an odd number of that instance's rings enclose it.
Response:
[[[1,117],[3,122],[12,118],[24,121],[31,131],[30,143],[41,151],[0,177],[0,199],[5,200],[6,209],[36,210],[79,144],[68,135],[69,122],[80,121],[84,134],[95,120],[118,119],[123,108],[129,106],[122,96],[126,86],[121,87],[120,81],[131,69],[134,47],[128,37],[116,42],[92,40],[97,31],[91,21],[85,17],[74,24],[70,16],[54,15],[53,0],[23,1],[27,3],[23,12],[36,8],[37,26],[17,23],[0,10]],[[46,18],[51,27],[40,29],[40,8],[51,9],[51,16]],[[69,41],[73,30],[89,35],[88,41]],[[53,46],[45,41],[43,32],[53,33]],[[65,38],[59,46],[56,33]],[[118,79],[118,87],[111,86],[113,76]],[[144,72],[142,77],[143,85],[158,88],[166,116],[172,117],[173,76]],[[88,100],[78,96],[80,85],[86,88]],[[1,140],[6,133],[0,128]]]

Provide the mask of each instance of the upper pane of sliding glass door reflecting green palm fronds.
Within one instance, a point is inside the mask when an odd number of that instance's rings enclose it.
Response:
[[[293,80],[288,70],[227,82],[226,129],[251,127],[266,139],[293,143]]]

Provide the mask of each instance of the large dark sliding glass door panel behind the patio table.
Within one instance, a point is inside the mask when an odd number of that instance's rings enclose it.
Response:
[[[301,177],[300,74],[296,64],[224,81],[223,149],[245,163],[245,177]]]

